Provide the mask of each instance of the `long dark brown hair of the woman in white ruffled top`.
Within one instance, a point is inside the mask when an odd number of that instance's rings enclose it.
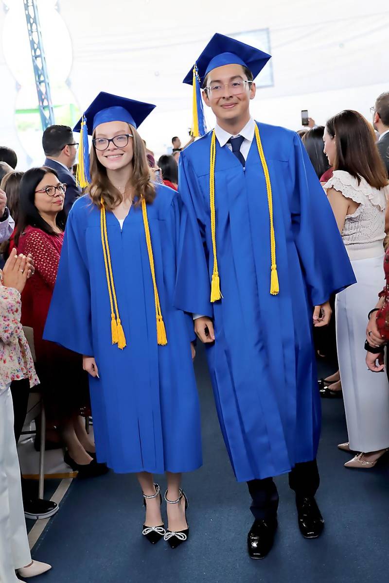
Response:
[[[362,176],[373,188],[387,185],[388,175],[375,143],[373,126],[363,115],[344,110],[331,117],[325,127],[335,138],[334,170],[345,170],[358,180],[358,184]]]

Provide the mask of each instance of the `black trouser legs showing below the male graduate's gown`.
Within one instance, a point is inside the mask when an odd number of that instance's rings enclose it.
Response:
[[[289,487],[296,496],[314,496],[320,484],[317,462],[296,463],[289,472]],[[253,503],[250,510],[257,520],[269,520],[276,517],[278,509],[278,491],[272,477],[264,480],[247,482]]]

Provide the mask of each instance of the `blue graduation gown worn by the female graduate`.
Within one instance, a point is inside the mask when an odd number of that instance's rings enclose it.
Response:
[[[107,212],[127,340],[124,350],[112,345],[100,210],[89,196],[78,199],[69,212],[44,338],[96,359],[100,379],[90,377],[89,385],[99,462],[118,473],[188,472],[201,466],[202,455],[191,317],[173,306],[180,224],[176,192],[158,186],[148,217],[167,346],[157,345],[142,210],[135,206],[122,230]]]

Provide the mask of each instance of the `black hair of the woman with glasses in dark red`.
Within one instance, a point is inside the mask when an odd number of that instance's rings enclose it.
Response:
[[[27,170],[20,180],[19,185],[19,221],[16,227],[15,233],[15,244],[19,243],[19,237],[23,233],[26,227],[37,227],[41,229],[44,233],[49,235],[55,235],[56,233],[51,229],[50,225],[45,222],[45,220],[38,213],[38,209],[35,206],[35,191],[39,182],[42,180],[45,174],[54,174],[58,178],[58,174],[52,168],[48,166],[42,166],[41,168],[30,168]],[[66,222],[66,214],[62,209],[55,222],[57,226],[64,230]]]

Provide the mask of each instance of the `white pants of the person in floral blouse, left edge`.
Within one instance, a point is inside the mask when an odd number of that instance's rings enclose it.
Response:
[[[0,582],[15,583],[15,569],[31,563],[24,520],[19,459],[9,387],[0,389]]]

